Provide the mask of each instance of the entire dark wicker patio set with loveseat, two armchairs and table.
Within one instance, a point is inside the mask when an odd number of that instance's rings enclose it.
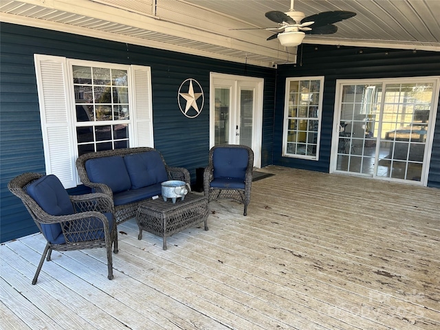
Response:
[[[113,251],[118,253],[117,225],[136,218],[140,229],[166,237],[204,221],[208,230],[208,201],[236,199],[250,202],[254,153],[248,146],[221,145],[211,148],[208,167],[203,174],[204,196],[188,194],[177,203],[159,199],[162,182],[190,184],[186,168],[166,165],[154,148],[122,148],[81,155],[76,167],[81,181],[91,194],[69,196],[54,175],[24,173],[10,181],[8,188],[19,197],[47,240],[32,284],[52,250],[107,249],[108,278],[113,278]]]

